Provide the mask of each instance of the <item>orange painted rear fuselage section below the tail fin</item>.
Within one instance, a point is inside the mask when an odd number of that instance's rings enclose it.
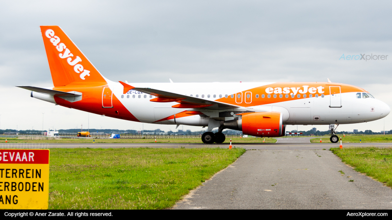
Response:
[[[108,117],[140,122],[123,106],[114,93],[112,98],[113,108],[102,108],[102,90],[104,87],[107,87],[107,84],[73,84],[67,87],[54,87],[53,89],[58,91],[78,91],[83,93],[82,100],[77,102],[69,102],[56,96],[54,96],[54,100],[60,106],[105,115]]]

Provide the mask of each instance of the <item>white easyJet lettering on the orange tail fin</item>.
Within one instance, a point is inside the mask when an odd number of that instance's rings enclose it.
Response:
[[[63,53],[59,54],[59,57],[61,59],[67,59],[68,64],[73,66],[73,70],[76,73],[80,73],[80,75],[79,75],[80,79],[85,80],[86,76],[90,76],[90,71],[87,69],[84,69],[84,67],[81,64],[78,64],[79,62],[82,62],[82,59],[79,56],[76,56],[76,58],[74,58],[72,60],[73,54],[71,53],[71,51],[67,48],[67,46],[64,43],[60,43],[60,38],[54,35],[53,30],[48,29],[45,32],[45,36],[50,39],[50,42],[53,44],[53,46],[56,47],[56,49],[59,52],[64,51]]]

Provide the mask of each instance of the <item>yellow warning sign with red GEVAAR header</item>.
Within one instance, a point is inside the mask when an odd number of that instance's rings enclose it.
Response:
[[[48,209],[49,150],[0,150],[0,209]]]

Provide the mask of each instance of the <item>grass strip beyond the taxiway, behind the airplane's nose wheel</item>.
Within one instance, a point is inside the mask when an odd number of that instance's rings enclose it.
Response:
[[[385,134],[385,135],[338,135],[339,136],[339,141],[340,138],[342,137],[342,143],[359,143],[361,140],[361,143],[391,143],[392,142],[392,134]],[[330,135],[328,136],[322,136],[322,143],[331,143],[329,140]],[[320,143],[320,138],[313,138],[310,139],[311,143]]]

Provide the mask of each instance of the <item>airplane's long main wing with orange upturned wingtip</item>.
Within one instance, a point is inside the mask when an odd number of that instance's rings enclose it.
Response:
[[[227,104],[227,103],[206,100],[206,99],[202,99],[202,98],[177,94],[177,93],[158,90],[158,89],[154,89],[154,88],[134,88],[134,87],[129,86],[128,84],[125,84],[123,82],[120,82],[120,83],[123,84],[123,86],[124,86],[124,93],[126,93],[128,90],[132,89],[132,90],[136,90],[136,91],[140,91],[143,93],[157,96],[158,98],[150,100],[152,102],[177,102],[177,103],[180,103],[177,105],[173,105],[172,106],[173,108],[232,109],[232,108],[239,108],[240,107],[240,106],[231,105],[231,104]]]

